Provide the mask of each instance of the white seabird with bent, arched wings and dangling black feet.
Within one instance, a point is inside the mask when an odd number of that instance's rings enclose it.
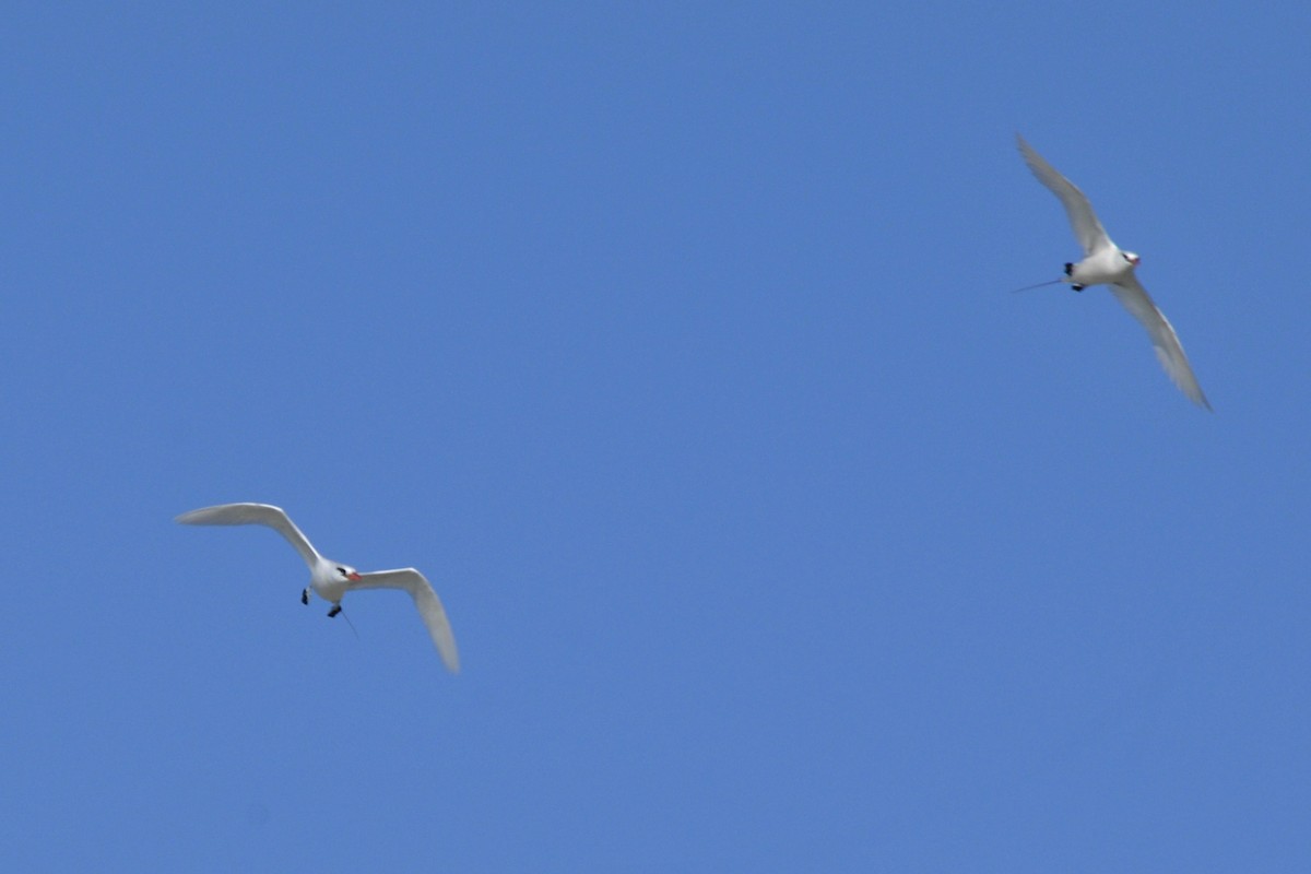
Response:
[[[267,525],[287,539],[309,566],[309,586],[300,594],[302,603],[309,603],[309,591],[329,601],[329,616],[341,612],[341,599],[358,588],[401,588],[414,599],[433,645],[451,672],[460,670],[460,656],[455,647],[455,634],[446,618],[446,609],[433,591],[431,583],[413,567],[375,570],[361,574],[350,565],[330,561],[319,554],[309,540],[296,528],[291,518],[279,507],[266,503],[224,503],[184,512],[176,519],[184,525]]]

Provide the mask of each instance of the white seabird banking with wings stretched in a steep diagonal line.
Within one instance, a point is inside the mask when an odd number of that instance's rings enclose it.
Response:
[[[1029,165],[1033,174],[1042,185],[1047,186],[1061,200],[1074,236],[1083,248],[1083,261],[1066,265],[1066,275],[1059,282],[1070,283],[1075,291],[1083,291],[1088,286],[1105,284],[1110,288],[1116,299],[1133,314],[1134,318],[1147,330],[1151,337],[1156,358],[1160,359],[1165,373],[1173,380],[1184,394],[1198,406],[1211,409],[1210,402],[1202,393],[1202,387],[1193,375],[1193,368],[1184,354],[1184,346],[1179,342],[1179,335],[1173,326],[1152,303],[1147,290],[1138,282],[1134,269],[1141,258],[1133,252],[1125,252],[1106,235],[1092,211],[1092,203],[1074,182],[1061,176],[1055,168],[1047,164],[1041,155],[1033,151],[1023,136],[1016,135],[1020,145],[1020,155]]]

